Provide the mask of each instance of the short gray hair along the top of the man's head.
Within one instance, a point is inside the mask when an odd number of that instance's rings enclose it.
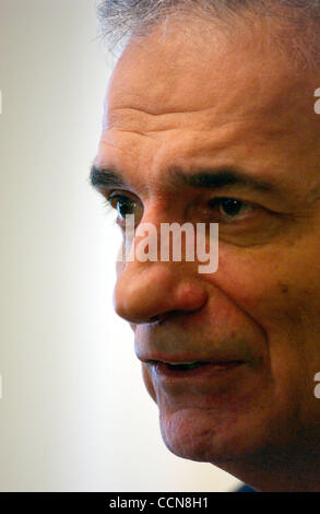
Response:
[[[103,0],[98,5],[102,33],[111,50],[122,49],[131,36],[147,35],[169,15],[190,12],[209,21],[246,19],[246,13],[289,21],[295,50],[299,46],[309,65],[320,65],[320,0]]]

